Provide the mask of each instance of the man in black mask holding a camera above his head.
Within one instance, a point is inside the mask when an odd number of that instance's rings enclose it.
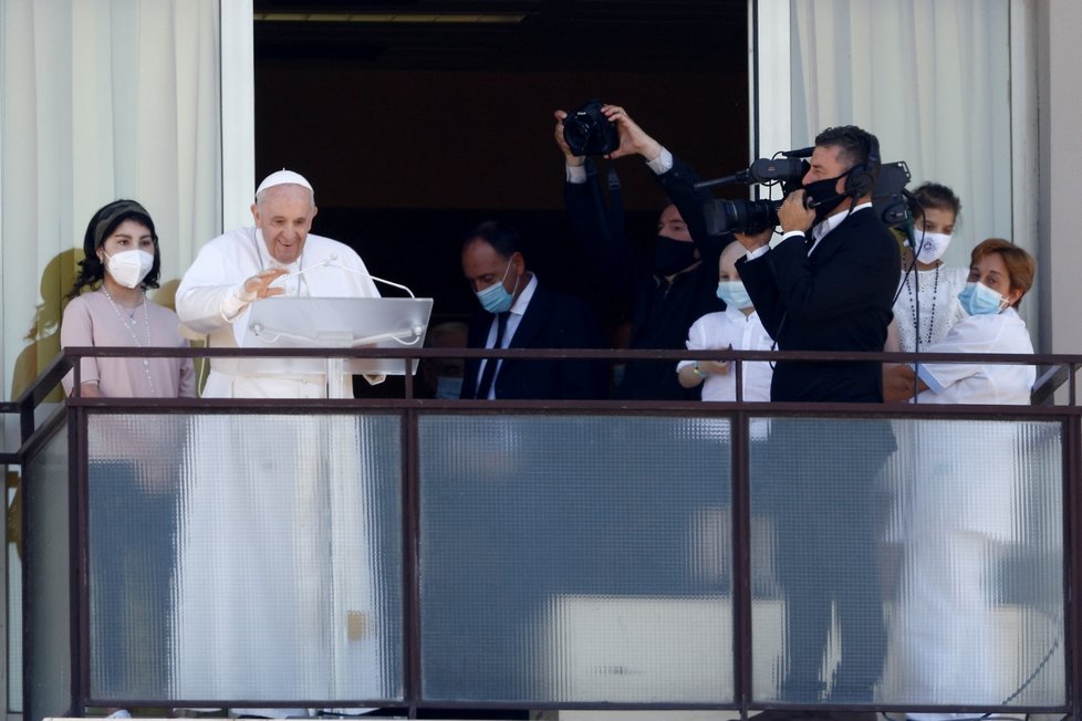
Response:
[[[710,196],[695,189],[695,173],[647,135],[624,108],[592,102],[571,116],[564,111],[554,115],[556,145],[566,163],[564,201],[571,228],[631,320],[630,346],[684,348],[696,318],[724,310],[717,297],[718,258],[731,236],[707,233],[701,208]],[[673,201],[657,222],[653,262],[641,258],[610,223],[596,166],[586,155],[642,156]],[[633,360],[615,397],[694,399],[696,393],[680,386],[670,360]]]

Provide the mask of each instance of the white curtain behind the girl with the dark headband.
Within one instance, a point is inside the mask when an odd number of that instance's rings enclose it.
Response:
[[[0,0],[4,397],[59,348],[93,212],[154,218],[163,289],[220,231],[219,0]]]

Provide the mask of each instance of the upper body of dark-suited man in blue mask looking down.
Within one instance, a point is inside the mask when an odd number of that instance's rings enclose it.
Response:
[[[519,234],[497,221],[475,228],[462,244],[462,273],[482,311],[469,324],[470,348],[596,348],[601,331],[590,306],[538,282],[527,270]],[[605,363],[472,358],[461,398],[604,398]]]

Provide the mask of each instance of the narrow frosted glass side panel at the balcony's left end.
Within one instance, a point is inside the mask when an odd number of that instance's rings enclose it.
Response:
[[[33,718],[67,715],[71,709],[71,509],[67,493],[67,427],[63,426],[23,467],[28,518],[25,560],[33,589],[33,614],[24,619],[31,634],[25,701]],[[22,638],[9,642],[21,645]]]

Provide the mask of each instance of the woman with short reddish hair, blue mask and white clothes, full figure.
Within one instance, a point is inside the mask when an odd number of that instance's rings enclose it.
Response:
[[[969,317],[928,353],[1032,354],[1016,309],[1033,283],[1024,250],[989,239],[972,250],[959,300]],[[928,363],[892,372],[888,399],[916,404],[1026,405],[1032,365]],[[1012,689],[996,685],[996,561],[1018,541],[1015,518],[1023,479],[1008,421],[924,419],[913,436],[912,476],[903,479],[896,523],[904,544],[902,595],[893,629],[899,700],[914,704],[999,704]],[[979,443],[966,438],[980,438]],[[974,714],[909,713],[928,721]]]

